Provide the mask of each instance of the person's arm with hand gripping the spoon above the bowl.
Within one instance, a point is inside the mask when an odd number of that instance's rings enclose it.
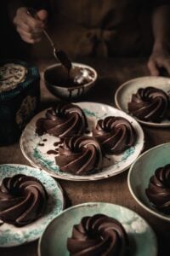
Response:
[[[34,19],[28,14],[29,8],[37,10],[38,19]],[[48,0],[8,0],[8,10],[16,31],[26,43],[34,44],[41,40],[42,29],[48,19]]]

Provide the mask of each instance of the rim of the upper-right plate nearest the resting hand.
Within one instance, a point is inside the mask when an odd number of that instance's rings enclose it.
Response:
[[[114,95],[114,100],[115,100],[115,103],[116,103],[116,107],[120,110],[122,110],[123,112],[127,113],[127,111],[124,111],[122,109],[122,106],[119,104],[119,101],[118,101],[118,94],[120,93],[120,91],[122,90],[122,88],[126,87],[127,84],[129,83],[132,83],[132,82],[135,82],[135,81],[138,81],[138,80],[141,80],[141,79],[165,79],[165,80],[169,80],[170,82],[170,78],[167,78],[167,77],[162,77],[162,76],[143,76],[143,77],[139,77],[139,78],[134,78],[134,79],[129,79],[127,80],[126,82],[122,83],[116,90],[116,93]],[[166,127],[170,127],[170,122],[169,123],[153,123],[153,122],[146,122],[144,120],[140,120],[138,119],[137,117],[131,115],[130,113],[127,113],[128,115],[132,116],[134,119],[136,119],[141,125],[146,125],[146,126],[150,126],[150,127],[159,127],[159,128],[166,128]]]

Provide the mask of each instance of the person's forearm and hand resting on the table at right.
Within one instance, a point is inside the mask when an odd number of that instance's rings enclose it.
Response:
[[[161,2],[161,1],[160,1]],[[161,68],[170,74],[170,3],[153,9],[152,27],[154,45],[148,67],[151,75],[160,75]]]

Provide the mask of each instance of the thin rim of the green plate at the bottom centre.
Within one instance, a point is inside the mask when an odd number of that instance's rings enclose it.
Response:
[[[139,215],[139,213],[137,212],[134,212],[133,210],[129,209],[128,207],[124,207],[122,205],[118,205],[118,204],[114,204],[114,203],[111,203],[111,202],[103,202],[103,201],[89,201],[89,202],[84,202],[84,203],[81,203],[81,204],[77,204],[75,206],[72,206],[72,207],[69,207],[69,208],[66,208],[63,212],[60,212],[54,219],[52,219],[49,224],[46,226],[45,230],[43,230],[42,232],[42,236],[44,235],[44,233],[46,232],[46,230],[48,229],[48,227],[50,225],[53,224],[53,222],[55,221],[56,218],[59,218],[62,214],[64,214],[65,212],[69,212],[71,211],[72,209],[75,209],[75,208],[81,208],[81,207],[87,207],[88,205],[90,206],[100,206],[100,205],[108,205],[108,206],[111,206],[113,205],[114,207],[121,207],[122,209],[126,209],[128,212],[133,212],[135,213],[139,218],[141,218],[145,224],[147,224],[147,226],[150,228],[150,231],[152,232],[152,237],[153,237],[153,240],[155,241],[155,245],[156,245],[156,255],[157,255],[157,252],[158,252],[158,241],[157,241],[157,237],[156,237],[156,233],[155,231],[152,229],[151,225],[141,216]],[[42,256],[41,254],[41,243],[42,243],[42,236],[40,236],[39,240],[38,240],[38,245],[37,245],[37,253],[38,253],[38,256]],[[155,256],[156,256],[155,255]],[[153,256],[153,255],[152,255]]]

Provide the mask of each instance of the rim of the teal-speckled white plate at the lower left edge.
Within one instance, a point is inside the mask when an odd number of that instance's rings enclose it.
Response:
[[[0,168],[1,168],[1,166],[12,166],[12,167],[16,167],[16,166],[20,166],[20,167],[27,167],[27,168],[31,168],[31,169],[35,169],[34,171],[35,172],[41,172],[41,170],[40,169],[38,169],[38,168],[36,168],[36,167],[34,167],[34,166],[27,166],[27,165],[23,165],[23,164],[11,164],[11,163],[6,163],[6,164],[1,164],[0,165]],[[1,171],[0,171],[1,172]],[[47,173],[45,174],[45,175],[48,175]],[[52,178],[52,179],[54,179],[54,177],[51,177],[50,175],[48,175],[48,177],[49,178]],[[59,188],[59,190],[60,190],[60,192],[61,192],[61,195],[62,195],[62,198],[61,198],[61,201],[62,201],[62,210],[61,210],[61,212],[63,212],[63,211],[65,211],[65,195],[64,195],[64,190],[63,190],[63,188],[61,187],[61,185],[59,184],[59,182],[57,181],[57,180],[55,180],[54,179],[54,182],[57,184],[57,186],[58,186],[58,188]],[[61,212],[59,212],[59,214],[61,213]],[[56,215],[56,216],[58,216],[58,215]],[[54,217],[55,218],[55,217]],[[53,218],[53,219],[54,219]],[[51,219],[50,221],[49,221],[49,223],[53,220],[53,219]],[[45,228],[44,228],[44,230],[46,229],[46,227],[48,226],[48,224],[45,226]],[[42,232],[43,233],[43,232]],[[32,242],[32,241],[37,241],[39,238],[40,238],[40,236],[42,236],[42,234],[40,234],[39,236],[37,236],[37,238],[33,238],[33,239],[30,239],[30,240],[28,240],[28,241],[23,241],[23,242],[21,242],[21,243],[19,243],[19,244],[14,244],[14,245],[5,245],[5,246],[3,246],[3,245],[1,245],[0,246],[0,248],[2,247],[2,248],[5,248],[5,247],[19,247],[19,246],[21,246],[21,245],[24,245],[24,244],[27,244],[27,243],[29,243],[29,242]]]

